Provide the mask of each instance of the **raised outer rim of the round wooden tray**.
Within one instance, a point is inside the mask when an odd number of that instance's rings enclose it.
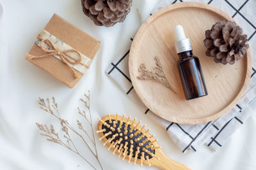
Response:
[[[149,108],[153,113],[156,113],[156,111],[154,111],[154,109],[152,109],[150,107],[150,103],[147,102],[147,100],[145,100],[145,97],[143,97],[140,92],[138,92],[138,86],[136,85],[136,83],[134,83],[136,81],[136,75],[133,74],[132,70],[132,53],[134,53],[135,48],[136,48],[136,43],[138,41],[136,41],[137,39],[140,39],[140,37],[143,35],[143,32],[145,31],[145,29],[147,29],[148,25],[150,25],[151,22],[153,22],[157,17],[159,17],[160,15],[163,15],[164,13],[171,11],[171,10],[177,10],[179,8],[202,8],[204,10],[209,10],[212,11],[218,15],[220,15],[221,17],[225,18],[226,20],[229,21],[234,21],[236,22],[232,17],[230,17],[227,13],[225,13],[224,11],[220,10],[219,8],[216,8],[214,6],[211,6],[209,4],[204,4],[204,3],[198,3],[198,2],[184,2],[184,3],[175,3],[175,4],[170,4],[169,6],[165,6],[164,8],[161,8],[161,10],[156,11],[156,13],[154,13],[152,16],[150,16],[140,27],[140,29],[138,30],[138,32],[136,32],[136,35],[134,36],[134,40],[132,41],[132,45],[130,48],[130,53],[129,53],[129,74],[131,77],[131,81],[132,81],[132,85],[134,87],[134,90],[136,91],[136,94],[138,94],[138,97],[140,98],[140,100],[145,104],[145,106],[147,106],[147,108]],[[200,118],[179,118],[179,117],[169,117],[169,118],[164,118],[168,121],[171,122],[175,122],[178,124],[203,124],[205,122],[210,122],[212,120],[215,120],[217,118],[220,118],[221,116],[225,115],[225,113],[227,113],[228,111],[230,111],[234,106],[236,106],[236,104],[239,102],[239,100],[241,99],[241,97],[243,96],[244,92],[246,91],[246,88],[248,87],[248,83],[250,81],[250,77],[251,77],[251,71],[252,71],[252,55],[251,55],[251,51],[250,51],[250,47],[248,48],[247,52],[246,52],[246,76],[244,78],[244,84],[243,87],[241,88],[239,94],[237,94],[237,96],[235,97],[235,99],[228,104],[228,106],[226,108],[224,108],[223,110],[221,110],[220,112],[208,116],[208,117],[200,117]],[[156,113],[156,115],[158,115],[159,117],[161,117],[159,114]]]

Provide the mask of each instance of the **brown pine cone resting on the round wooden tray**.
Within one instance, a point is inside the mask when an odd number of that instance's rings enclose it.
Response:
[[[215,62],[234,64],[244,57],[249,48],[246,34],[236,22],[221,21],[212,25],[211,30],[205,31],[205,54],[214,57]]]

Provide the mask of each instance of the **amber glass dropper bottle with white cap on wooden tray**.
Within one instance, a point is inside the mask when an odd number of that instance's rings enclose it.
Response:
[[[177,36],[175,48],[179,55],[177,64],[186,99],[206,96],[208,93],[202,68],[199,59],[192,53],[190,39],[186,38],[183,27],[180,25],[175,27],[175,32]]]

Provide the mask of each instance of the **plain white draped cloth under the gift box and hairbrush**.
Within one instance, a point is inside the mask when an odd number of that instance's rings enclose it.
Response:
[[[85,17],[80,0],[0,2],[0,169],[89,169],[88,164],[76,154],[47,142],[39,135],[35,125],[35,122],[58,125],[55,118],[38,108],[38,96],[55,96],[63,117],[76,122],[78,99],[87,89],[92,91],[95,129],[97,117],[107,113],[125,113],[147,124],[152,134],[159,139],[166,155],[191,169],[256,169],[255,114],[246,120],[218,152],[202,148],[196,153],[182,153],[166,136],[166,132],[162,131],[162,127],[141,114],[143,110],[137,108],[136,103],[117,85],[113,85],[113,81],[104,73],[115,58],[116,49],[128,43],[128,38],[134,36],[141,22],[159,1],[134,0],[125,22],[110,28],[97,27]],[[250,0],[250,4],[255,4],[255,0]],[[58,13],[102,43],[90,70],[74,89],[68,89],[25,60],[37,34],[53,13]],[[256,38],[252,41],[256,41]],[[256,113],[255,108],[250,108],[250,111]],[[97,146],[105,169],[156,169],[132,166],[113,156],[101,142],[97,141]],[[89,154],[86,157],[92,159]]]

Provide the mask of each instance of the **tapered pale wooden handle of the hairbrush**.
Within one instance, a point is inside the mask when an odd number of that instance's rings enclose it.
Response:
[[[157,160],[157,164],[154,166],[160,167],[161,169],[166,170],[188,170],[189,167],[180,164],[179,162],[176,162],[175,160],[170,159],[167,157],[164,153],[159,155],[159,160]]]

